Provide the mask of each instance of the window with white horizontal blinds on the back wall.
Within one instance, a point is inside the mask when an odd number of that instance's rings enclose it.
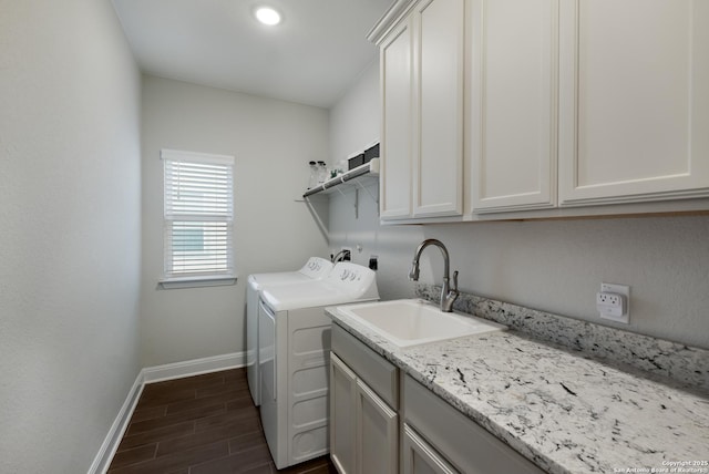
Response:
[[[165,288],[234,284],[234,157],[161,151]]]

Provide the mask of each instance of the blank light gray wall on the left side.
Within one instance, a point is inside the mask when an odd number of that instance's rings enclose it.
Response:
[[[86,472],[140,371],[140,73],[107,0],[0,0],[0,472]]]

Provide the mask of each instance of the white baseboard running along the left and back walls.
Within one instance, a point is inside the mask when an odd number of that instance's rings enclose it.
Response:
[[[217,372],[220,370],[237,369],[246,365],[246,353],[235,352],[224,356],[208,357],[204,359],[188,360],[185,362],[168,363],[165,365],[147,367],[141,370],[129,391],[125,402],[115,418],[109,434],[106,434],[96,457],[94,458],[88,474],[105,474],[111,465],[111,461],[119,449],[123,434],[129,427],[129,422],[135,405],[137,404],[143,388],[147,383],[161,382],[165,380],[183,379],[185,377],[199,375],[203,373]]]

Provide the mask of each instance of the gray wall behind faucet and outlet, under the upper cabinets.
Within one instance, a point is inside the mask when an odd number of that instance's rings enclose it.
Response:
[[[336,161],[367,143],[378,115],[378,64],[332,109]],[[368,105],[367,105],[368,106]],[[369,120],[364,120],[369,117]],[[373,192],[376,192],[376,186]],[[379,256],[384,299],[413,296],[407,274],[424,238],[441,239],[462,290],[534,309],[709,348],[709,216],[607,218],[425,226],[380,226],[377,204],[360,193],[359,218],[351,196],[330,198],[330,247],[356,248],[354,261]],[[440,285],[440,253],[424,254],[421,281]],[[600,282],[629,285],[630,324],[600,320]]]

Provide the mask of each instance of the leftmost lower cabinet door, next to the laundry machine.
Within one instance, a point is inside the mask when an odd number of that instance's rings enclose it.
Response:
[[[335,353],[331,353],[330,458],[340,474],[353,474],[356,468],[356,398],[354,373]]]

